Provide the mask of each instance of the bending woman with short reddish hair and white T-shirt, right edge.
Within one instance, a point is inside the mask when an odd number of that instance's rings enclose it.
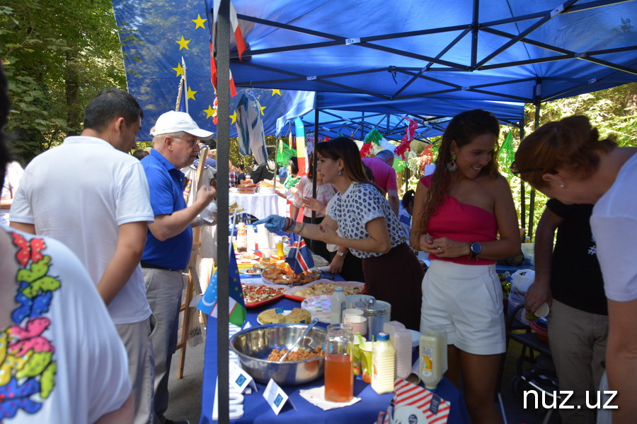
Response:
[[[595,204],[590,228],[597,244],[608,298],[606,371],[617,396],[598,414],[612,422],[637,417],[637,148],[599,139],[583,115],[549,122],[529,135],[515,153],[513,172],[564,204]],[[577,264],[573,264],[577,266]],[[602,379],[602,387],[604,385]],[[605,388],[600,387],[600,390]],[[598,415],[598,423],[606,423]]]

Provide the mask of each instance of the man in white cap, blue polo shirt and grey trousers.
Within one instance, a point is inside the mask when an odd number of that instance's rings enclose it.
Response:
[[[185,112],[162,114],[151,131],[153,148],[142,159],[155,216],[149,224],[142,254],[146,296],[157,320],[151,336],[155,355],[155,423],[173,423],[163,413],[168,408],[168,376],[177,346],[177,330],[182,271],[188,266],[193,248],[193,226],[217,193],[202,186],[191,206],[183,199],[185,175],[181,168],[193,163],[199,154],[199,141],[212,139],[212,132],[200,129]],[[183,421],[185,423],[185,421]]]

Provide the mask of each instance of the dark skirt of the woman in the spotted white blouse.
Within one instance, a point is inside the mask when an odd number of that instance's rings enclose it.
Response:
[[[367,292],[391,305],[391,319],[420,329],[420,303],[425,273],[406,243],[379,257],[362,259]]]

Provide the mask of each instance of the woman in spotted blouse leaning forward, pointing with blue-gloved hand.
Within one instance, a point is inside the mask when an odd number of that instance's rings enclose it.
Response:
[[[423,269],[406,244],[396,214],[369,183],[356,143],[338,137],[316,144],[316,153],[316,172],[338,190],[328,203],[323,223],[294,223],[272,215],[263,220],[265,228],[347,247],[350,254],[362,258],[367,294],[391,304],[391,319],[418,329]]]

